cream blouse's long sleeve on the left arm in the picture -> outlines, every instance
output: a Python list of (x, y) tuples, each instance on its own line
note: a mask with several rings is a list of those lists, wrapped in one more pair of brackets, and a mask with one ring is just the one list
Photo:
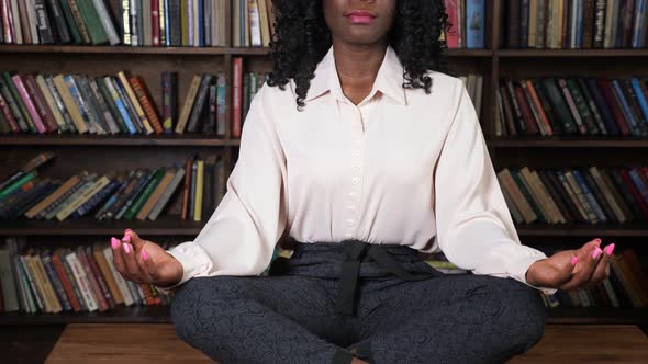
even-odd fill
[(193, 241), (168, 250), (183, 268), (174, 287), (195, 276), (258, 275), (270, 263), (286, 226), (287, 168), (267, 88), (252, 100), (223, 200)]

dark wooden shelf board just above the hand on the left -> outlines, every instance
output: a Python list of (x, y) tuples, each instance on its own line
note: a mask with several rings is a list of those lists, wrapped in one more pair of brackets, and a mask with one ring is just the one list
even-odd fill
[(197, 236), (205, 221), (181, 220), (178, 216), (160, 216), (155, 221), (96, 220), (80, 218), (66, 221), (0, 220), (0, 236), (112, 236), (131, 228), (147, 236)]

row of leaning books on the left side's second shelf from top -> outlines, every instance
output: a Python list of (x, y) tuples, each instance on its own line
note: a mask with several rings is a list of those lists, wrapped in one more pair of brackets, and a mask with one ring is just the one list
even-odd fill
[[(169, 73), (163, 75), (163, 83)], [(170, 81), (168, 81), (170, 82)], [(172, 87), (163, 87), (170, 93)], [(172, 95), (171, 95), (172, 96)], [(174, 110), (163, 98), (163, 118), (138, 76), (89, 77), (2, 72), (0, 130), (3, 133), (161, 134)]]

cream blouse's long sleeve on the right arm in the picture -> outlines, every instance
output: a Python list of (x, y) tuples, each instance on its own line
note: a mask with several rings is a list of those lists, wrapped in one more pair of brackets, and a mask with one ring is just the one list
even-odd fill
[(547, 255), (521, 243), (498, 183), (474, 106), (458, 81), (458, 103), (435, 169), (437, 239), (457, 266), (526, 282), (526, 271)]

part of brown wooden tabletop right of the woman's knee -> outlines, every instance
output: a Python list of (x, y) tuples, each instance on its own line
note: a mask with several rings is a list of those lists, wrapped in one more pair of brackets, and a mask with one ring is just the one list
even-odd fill
[(540, 342), (507, 363), (647, 362), (648, 337), (636, 326), (547, 325)]

